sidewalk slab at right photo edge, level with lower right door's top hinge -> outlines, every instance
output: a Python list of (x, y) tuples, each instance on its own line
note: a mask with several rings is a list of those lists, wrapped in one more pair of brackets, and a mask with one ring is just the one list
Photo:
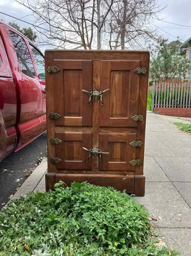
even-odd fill
[(161, 133), (156, 132), (155, 136), (178, 157), (191, 157), (191, 135), (188, 133)]

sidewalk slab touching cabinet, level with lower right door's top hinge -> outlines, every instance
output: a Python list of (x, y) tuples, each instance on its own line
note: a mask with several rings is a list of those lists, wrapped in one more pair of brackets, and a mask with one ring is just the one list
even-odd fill
[(175, 156), (175, 152), (161, 142), (154, 132), (145, 135), (145, 156)]

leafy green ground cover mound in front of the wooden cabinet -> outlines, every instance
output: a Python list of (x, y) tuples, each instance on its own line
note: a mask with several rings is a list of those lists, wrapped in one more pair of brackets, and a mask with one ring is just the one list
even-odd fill
[(63, 185), (3, 208), (0, 256), (178, 255), (151, 238), (148, 213), (125, 191)]

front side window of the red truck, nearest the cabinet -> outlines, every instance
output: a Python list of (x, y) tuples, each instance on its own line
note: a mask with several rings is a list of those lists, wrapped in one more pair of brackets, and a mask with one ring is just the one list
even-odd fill
[(41, 53), (30, 44), (31, 51), (33, 52), (34, 62), (36, 64), (38, 75), (41, 80), (45, 80), (44, 57)]

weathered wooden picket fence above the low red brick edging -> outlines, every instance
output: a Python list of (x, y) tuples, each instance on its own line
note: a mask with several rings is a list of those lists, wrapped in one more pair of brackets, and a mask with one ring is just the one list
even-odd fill
[(191, 108), (191, 83), (153, 83), (151, 110), (158, 108)]

